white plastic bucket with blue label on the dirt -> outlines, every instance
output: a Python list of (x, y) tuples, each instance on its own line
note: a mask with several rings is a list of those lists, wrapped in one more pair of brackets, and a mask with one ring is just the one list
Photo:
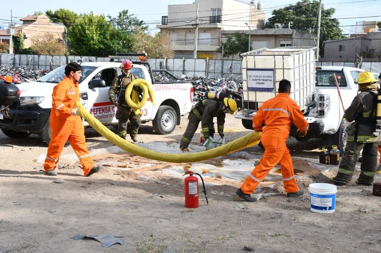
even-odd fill
[(334, 212), (337, 187), (331, 183), (311, 183), (310, 191), (311, 211), (321, 214)]

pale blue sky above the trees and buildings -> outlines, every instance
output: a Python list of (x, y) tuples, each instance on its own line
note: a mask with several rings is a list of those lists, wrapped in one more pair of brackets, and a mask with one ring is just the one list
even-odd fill
[[(206, 1), (206, 0), (205, 0)], [(241, 0), (249, 2), (250, 0)], [(258, 0), (257, 0), (258, 1)], [(110, 14), (117, 16), (119, 11), (128, 9), (129, 13), (135, 14), (139, 19), (148, 22), (161, 22), (161, 16), (167, 14), (168, 4), (192, 3), (193, 0), (138, 0), (138, 1), (116, 1), (116, 0), (12, 0), (4, 2), (1, 6), (0, 25), (10, 22), (10, 10), (16, 21), (19, 18), (33, 14), (34, 11), (45, 12), (48, 9), (59, 8), (70, 9), (76, 13)], [(271, 16), (271, 10), (282, 8), (286, 4), (296, 3), (297, 0), (262, 0), (266, 19)], [(359, 21), (381, 20), (381, 0), (323, 0), (326, 8), (335, 8), (335, 18), (339, 19), (344, 34), (349, 33), (349, 26)], [(363, 18), (367, 16), (375, 16)], [(155, 25), (150, 25), (154, 28)]]

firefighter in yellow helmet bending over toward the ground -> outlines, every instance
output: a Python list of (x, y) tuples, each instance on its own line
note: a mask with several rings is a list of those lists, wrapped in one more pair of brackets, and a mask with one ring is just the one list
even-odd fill
[[(217, 117), (217, 131), (221, 138), (224, 137), (225, 114), (229, 112), (233, 114), (237, 110), (237, 102), (231, 98), (224, 98), (222, 101), (215, 99), (205, 99), (198, 102), (192, 108), (188, 116), (188, 126), (185, 130), (183, 138), (181, 138), (180, 149), (189, 151), (188, 146), (191, 143), (194, 133), (201, 121), (202, 133), (204, 135), (204, 146), (208, 149), (212, 145), (209, 126), (213, 122), (213, 118)], [(214, 131), (214, 128), (213, 128)]]

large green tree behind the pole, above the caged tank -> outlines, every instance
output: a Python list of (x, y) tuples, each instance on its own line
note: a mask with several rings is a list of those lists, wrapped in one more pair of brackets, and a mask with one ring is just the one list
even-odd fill
[[(276, 28), (277, 24), (288, 28), (289, 25), (291, 29), (316, 34), (318, 9), (317, 0), (298, 1), (282, 9), (273, 10), (273, 16), (268, 19), (265, 28)], [(319, 45), (321, 56), (324, 54), (324, 41), (343, 38), (338, 20), (332, 17), (334, 12), (334, 8), (325, 9), (322, 4)]]

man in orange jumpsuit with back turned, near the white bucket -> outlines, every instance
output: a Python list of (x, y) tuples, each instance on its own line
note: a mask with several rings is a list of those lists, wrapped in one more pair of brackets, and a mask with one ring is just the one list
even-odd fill
[(255, 166), (251, 174), (237, 189), (236, 193), (245, 201), (254, 202), (256, 198), (251, 197), (255, 187), (265, 179), (270, 170), (278, 163), (281, 164), (283, 184), (287, 197), (303, 195), (303, 189), (296, 185), (292, 168), (291, 156), (286, 147), (286, 140), (290, 132), (292, 123), (298, 128), (298, 135), (303, 137), (308, 131), (308, 123), (303, 117), (299, 106), (289, 97), (291, 83), (283, 79), (279, 82), (278, 95), (272, 98), (258, 109), (253, 117), (253, 128), (255, 131), (262, 131), (261, 142), (265, 152), (260, 160), (260, 164)]

